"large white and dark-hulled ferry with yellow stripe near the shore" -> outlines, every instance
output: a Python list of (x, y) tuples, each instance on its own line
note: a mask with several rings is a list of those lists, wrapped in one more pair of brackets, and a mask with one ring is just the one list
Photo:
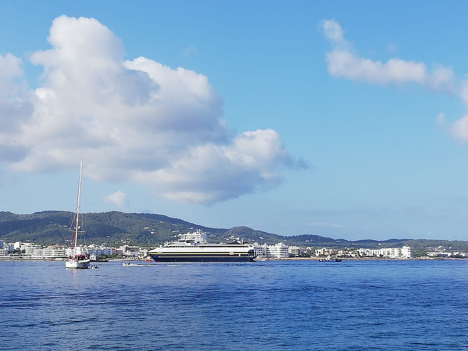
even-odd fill
[(179, 234), (178, 241), (167, 242), (148, 251), (155, 262), (253, 262), (253, 245), (233, 241), (211, 244), (206, 240), (208, 233), (201, 230)]

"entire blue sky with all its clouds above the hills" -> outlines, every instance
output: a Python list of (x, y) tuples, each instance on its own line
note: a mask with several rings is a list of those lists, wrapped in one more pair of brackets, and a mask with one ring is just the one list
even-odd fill
[(0, 211), (468, 240), (467, 10), (5, 2)]

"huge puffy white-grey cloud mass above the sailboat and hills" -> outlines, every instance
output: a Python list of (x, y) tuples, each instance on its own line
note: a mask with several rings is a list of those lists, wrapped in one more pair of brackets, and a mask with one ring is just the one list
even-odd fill
[(125, 61), (121, 40), (95, 19), (58, 17), (48, 42), (30, 57), (44, 67), (34, 92), (18, 81), (21, 59), (0, 56), (0, 154), (13, 169), (62, 170), (84, 159), (95, 180), (209, 203), (274, 186), (298, 165), (273, 130), (230, 136), (203, 74)]

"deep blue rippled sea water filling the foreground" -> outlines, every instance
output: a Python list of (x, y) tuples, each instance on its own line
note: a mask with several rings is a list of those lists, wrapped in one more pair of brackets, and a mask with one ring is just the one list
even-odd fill
[(0, 263), (1, 350), (468, 350), (468, 261)]

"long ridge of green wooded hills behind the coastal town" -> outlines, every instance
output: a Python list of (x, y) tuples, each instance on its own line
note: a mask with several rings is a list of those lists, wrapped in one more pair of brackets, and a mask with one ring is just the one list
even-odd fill
[[(40, 244), (67, 244), (72, 234), (70, 224), (73, 212), (43, 211), (32, 214), (0, 212), (0, 240), (8, 242), (34, 241)], [(244, 242), (274, 244), (280, 241), (288, 245), (329, 247), (329, 248), (388, 248), (409, 245), (413, 248), (428, 249), (438, 246), (452, 250), (468, 250), (468, 241), (447, 241), (427, 239), (389, 239), (385, 241), (333, 239), (315, 234), (283, 236), (254, 230), (249, 227), (230, 229), (210, 228), (154, 213), (98, 212), (80, 216), (86, 230), (86, 243), (106, 243), (109, 245), (135, 244), (154, 246), (175, 240), (178, 233), (194, 229), (210, 232), (209, 241), (226, 242), (233, 238)]]

